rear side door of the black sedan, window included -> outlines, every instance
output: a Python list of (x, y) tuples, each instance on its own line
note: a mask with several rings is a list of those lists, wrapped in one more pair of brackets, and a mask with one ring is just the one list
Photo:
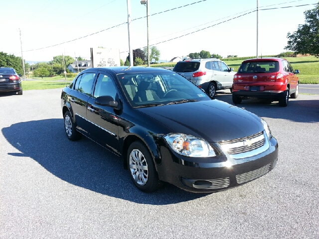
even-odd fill
[(73, 90), (70, 92), (69, 101), (71, 110), (77, 125), (77, 129), (83, 134), (87, 133), (87, 101), (91, 97), (95, 72), (85, 72), (80, 74), (75, 82)]

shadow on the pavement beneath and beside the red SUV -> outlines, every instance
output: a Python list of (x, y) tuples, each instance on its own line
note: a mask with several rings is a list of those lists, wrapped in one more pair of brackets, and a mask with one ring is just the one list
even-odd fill
[(295, 122), (319, 122), (319, 100), (289, 99), (287, 107), (281, 107), (278, 101), (272, 103), (267, 100), (248, 99), (235, 105), (230, 93), (217, 92), (215, 99), (245, 109), (259, 117), (273, 119), (289, 119)]

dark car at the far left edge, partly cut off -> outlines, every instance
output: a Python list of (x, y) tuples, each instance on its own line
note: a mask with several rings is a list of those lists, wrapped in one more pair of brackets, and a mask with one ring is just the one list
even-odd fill
[(17, 92), (22, 95), (20, 77), (13, 68), (0, 67), (0, 92)]

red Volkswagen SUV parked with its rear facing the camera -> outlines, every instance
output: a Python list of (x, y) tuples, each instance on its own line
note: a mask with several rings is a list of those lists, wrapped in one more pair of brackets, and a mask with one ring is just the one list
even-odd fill
[(293, 70), (290, 62), (282, 58), (255, 58), (241, 63), (234, 75), (232, 98), (234, 104), (243, 99), (259, 98), (278, 100), (286, 107), (289, 96), (298, 97), (299, 70)]

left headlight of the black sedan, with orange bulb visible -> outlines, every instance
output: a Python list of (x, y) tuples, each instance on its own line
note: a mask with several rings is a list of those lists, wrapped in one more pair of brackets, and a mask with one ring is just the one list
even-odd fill
[(163, 136), (172, 150), (188, 157), (216, 156), (210, 144), (200, 138), (180, 133), (170, 133)]

